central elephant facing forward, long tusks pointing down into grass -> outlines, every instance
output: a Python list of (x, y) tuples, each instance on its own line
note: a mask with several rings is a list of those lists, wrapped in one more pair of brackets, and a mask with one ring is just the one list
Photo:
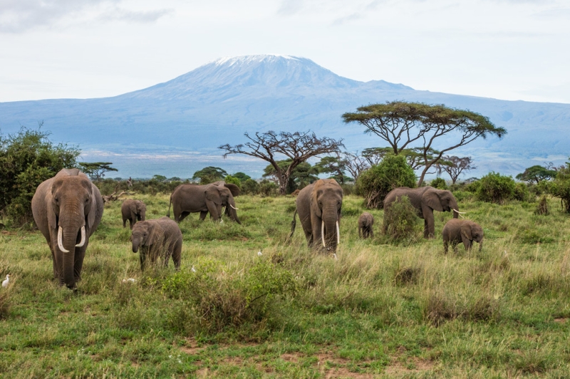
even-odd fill
[(335, 252), (340, 243), (342, 205), (343, 189), (334, 179), (320, 179), (304, 187), (296, 199), (289, 237), (295, 232), (295, 217), (299, 213), (308, 246), (318, 249), (322, 242), (324, 249)]

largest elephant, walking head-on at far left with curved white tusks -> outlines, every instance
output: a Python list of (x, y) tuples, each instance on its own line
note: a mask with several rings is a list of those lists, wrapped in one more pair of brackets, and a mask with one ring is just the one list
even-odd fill
[(103, 197), (83, 172), (63, 169), (38, 185), (31, 209), (51, 250), (53, 277), (75, 289), (89, 237), (103, 217)]

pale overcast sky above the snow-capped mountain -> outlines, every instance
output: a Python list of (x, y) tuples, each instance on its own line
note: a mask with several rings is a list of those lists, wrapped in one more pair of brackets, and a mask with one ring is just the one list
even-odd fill
[(0, 101), (98, 98), (222, 56), (570, 103), (568, 0), (0, 0)]

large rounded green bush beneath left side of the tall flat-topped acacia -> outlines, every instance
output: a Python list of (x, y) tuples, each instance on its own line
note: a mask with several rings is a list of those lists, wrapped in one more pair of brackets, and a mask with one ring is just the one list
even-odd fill
[(381, 208), (384, 198), (394, 188), (415, 187), (415, 174), (403, 155), (390, 154), (364, 171), (356, 180), (356, 186), (367, 208)]

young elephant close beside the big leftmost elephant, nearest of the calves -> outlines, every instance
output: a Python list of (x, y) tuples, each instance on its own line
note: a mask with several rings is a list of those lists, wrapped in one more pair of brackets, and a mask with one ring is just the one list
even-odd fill
[(174, 266), (180, 269), (182, 255), (182, 232), (180, 227), (168, 217), (137, 222), (130, 234), (133, 243), (133, 253), (140, 249), (140, 270), (145, 271), (145, 261), (148, 258), (154, 263), (158, 256), (164, 259), (165, 267), (172, 256)]

